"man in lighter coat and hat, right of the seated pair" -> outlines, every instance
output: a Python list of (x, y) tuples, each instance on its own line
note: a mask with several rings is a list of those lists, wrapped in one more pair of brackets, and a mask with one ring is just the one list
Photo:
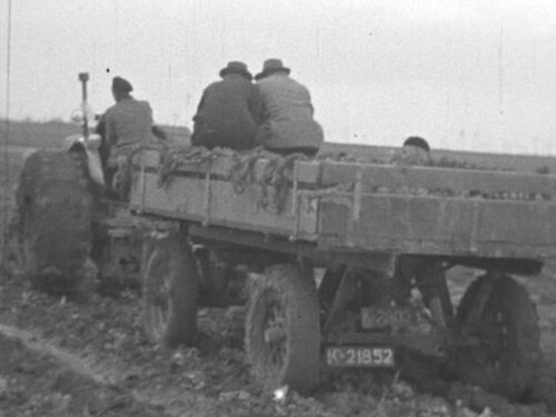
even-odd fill
[(279, 59), (267, 59), (255, 79), (262, 105), (257, 141), (280, 153), (315, 156), (324, 140), (322, 128), (312, 118), (309, 90), (289, 77)]

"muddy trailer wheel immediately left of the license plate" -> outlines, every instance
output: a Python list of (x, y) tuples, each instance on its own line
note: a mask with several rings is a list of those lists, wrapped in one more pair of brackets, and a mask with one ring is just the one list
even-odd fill
[(267, 389), (288, 385), (308, 391), (318, 383), (319, 348), (314, 280), (292, 265), (267, 268), (247, 309), (246, 350), (254, 377)]

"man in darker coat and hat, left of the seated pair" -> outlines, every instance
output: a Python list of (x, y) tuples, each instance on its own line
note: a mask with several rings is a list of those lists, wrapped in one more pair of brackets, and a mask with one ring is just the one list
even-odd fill
[(255, 148), (260, 103), (252, 76), (244, 62), (231, 61), (220, 71), (220, 81), (202, 92), (193, 117), (191, 143), (231, 148)]

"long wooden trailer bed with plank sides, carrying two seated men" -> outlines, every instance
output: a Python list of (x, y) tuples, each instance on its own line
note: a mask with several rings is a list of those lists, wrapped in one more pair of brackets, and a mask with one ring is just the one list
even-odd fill
[[(160, 158), (157, 150), (136, 158), (131, 207), (138, 212), (275, 235), (322, 250), (556, 256), (554, 175), (297, 160), (277, 210), (261, 205), (259, 182), (238, 190), (230, 173), (237, 156), (181, 163), (163, 185)], [(258, 159), (254, 178), (269, 163)]]

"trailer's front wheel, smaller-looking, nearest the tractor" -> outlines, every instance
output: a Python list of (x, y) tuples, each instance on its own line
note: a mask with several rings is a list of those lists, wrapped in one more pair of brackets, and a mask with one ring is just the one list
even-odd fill
[(155, 241), (142, 274), (149, 340), (168, 347), (191, 345), (197, 335), (198, 275), (189, 244), (177, 235)]

